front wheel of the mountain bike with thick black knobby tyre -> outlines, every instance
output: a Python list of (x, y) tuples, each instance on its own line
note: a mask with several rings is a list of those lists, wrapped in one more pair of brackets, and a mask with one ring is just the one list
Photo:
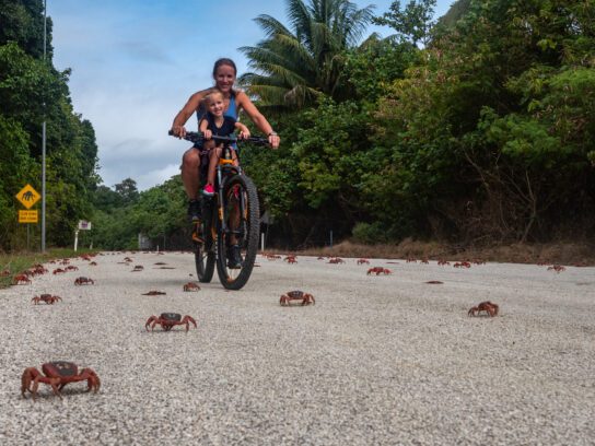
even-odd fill
[[(235, 175), (223, 186), (223, 219), (226, 231), (217, 238), (217, 273), (228, 290), (242, 289), (250, 278), (258, 249), (259, 207), (256, 186), (245, 175)], [(229, 248), (240, 246), (240, 268), (230, 268)]]

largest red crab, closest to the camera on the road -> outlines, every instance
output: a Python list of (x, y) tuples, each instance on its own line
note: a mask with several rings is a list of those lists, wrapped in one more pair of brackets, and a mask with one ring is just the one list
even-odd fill
[(45, 376), (35, 367), (25, 368), (21, 379), (21, 395), (23, 398), (25, 398), (25, 391), (28, 390), (35, 401), (39, 383), (49, 384), (54, 395), (60, 398), (62, 398), (60, 390), (70, 383), (86, 380), (86, 391), (93, 390), (96, 394), (100, 390), (101, 380), (97, 374), (91, 368), (83, 368), (79, 373), (79, 367), (74, 363), (63, 361), (45, 363), (42, 365), (42, 372), (44, 372)]

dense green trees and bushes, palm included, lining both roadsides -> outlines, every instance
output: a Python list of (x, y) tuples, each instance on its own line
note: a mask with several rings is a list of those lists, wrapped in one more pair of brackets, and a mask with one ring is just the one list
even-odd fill
[[(323, 244), (329, 230), (467, 246), (593, 234), (595, 0), (459, 0), (438, 21), (434, 0), (377, 16), (345, 0), (287, 3), (287, 21), (256, 17), (265, 38), (242, 48), (253, 72), (241, 78), (282, 137), (277, 152), (243, 154), (279, 244)], [(40, 176), (44, 117), (50, 243), (94, 212), (95, 247), (136, 247), (139, 232), (180, 247), (179, 177), (102, 186), (68, 71), (51, 48), (43, 60), (42, 2), (0, 4), (0, 247), (22, 239), (13, 196)], [(394, 35), (362, 39), (371, 22)]]

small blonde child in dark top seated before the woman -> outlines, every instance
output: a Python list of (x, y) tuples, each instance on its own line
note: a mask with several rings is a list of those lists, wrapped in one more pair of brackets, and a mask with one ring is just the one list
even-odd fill
[[(246, 139), (250, 137), (250, 131), (246, 126), (241, 122), (237, 122), (231, 116), (223, 115), (223, 94), (221, 92), (212, 92), (205, 96), (205, 105), (207, 113), (205, 117), (200, 120), (198, 126), (199, 130), (205, 136), (203, 149), (209, 150), (209, 173), (207, 175), (207, 185), (202, 189), (202, 193), (206, 196), (212, 196), (214, 193), (214, 173), (217, 169), (217, 164), (221, 157), (221, 151), (223, 144), (217, 145), (215, 141), (212, 141), (213, 136), (218, 137), (229, 137), (236, 129), (240, 130), (240, 138)], [(237, 154), (235, 149), (230, 145), (232, 150), (232, 159), (234, 165), (237, 165)]]

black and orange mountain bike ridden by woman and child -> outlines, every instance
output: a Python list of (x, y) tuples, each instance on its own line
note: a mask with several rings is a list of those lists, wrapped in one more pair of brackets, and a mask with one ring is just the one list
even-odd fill
[[(203, 141), (199, 132), (186, 132), (184, 139), (194, 143)], [(240, 165), (233, 165), (230, 145), (243, 142), (266, 145), (269, 142), (258, 137), (241, 140), (213, 136), (212, 139), (222, 142), (223, 150), (217, 166), (215, 193), (212, 198), (201, 197), (202, 219), (192, 226), (196, 272), (200, 282), (209, 283), (217, 265), (221, 284), (228, 290), (240, 290), (254, 269), (260, 211), (256, 186)], [(240, 161), (238, 153), (237, 159)], [(240, 268), (230, 268), (229, 253), (233, 245), (240, 246)]]

